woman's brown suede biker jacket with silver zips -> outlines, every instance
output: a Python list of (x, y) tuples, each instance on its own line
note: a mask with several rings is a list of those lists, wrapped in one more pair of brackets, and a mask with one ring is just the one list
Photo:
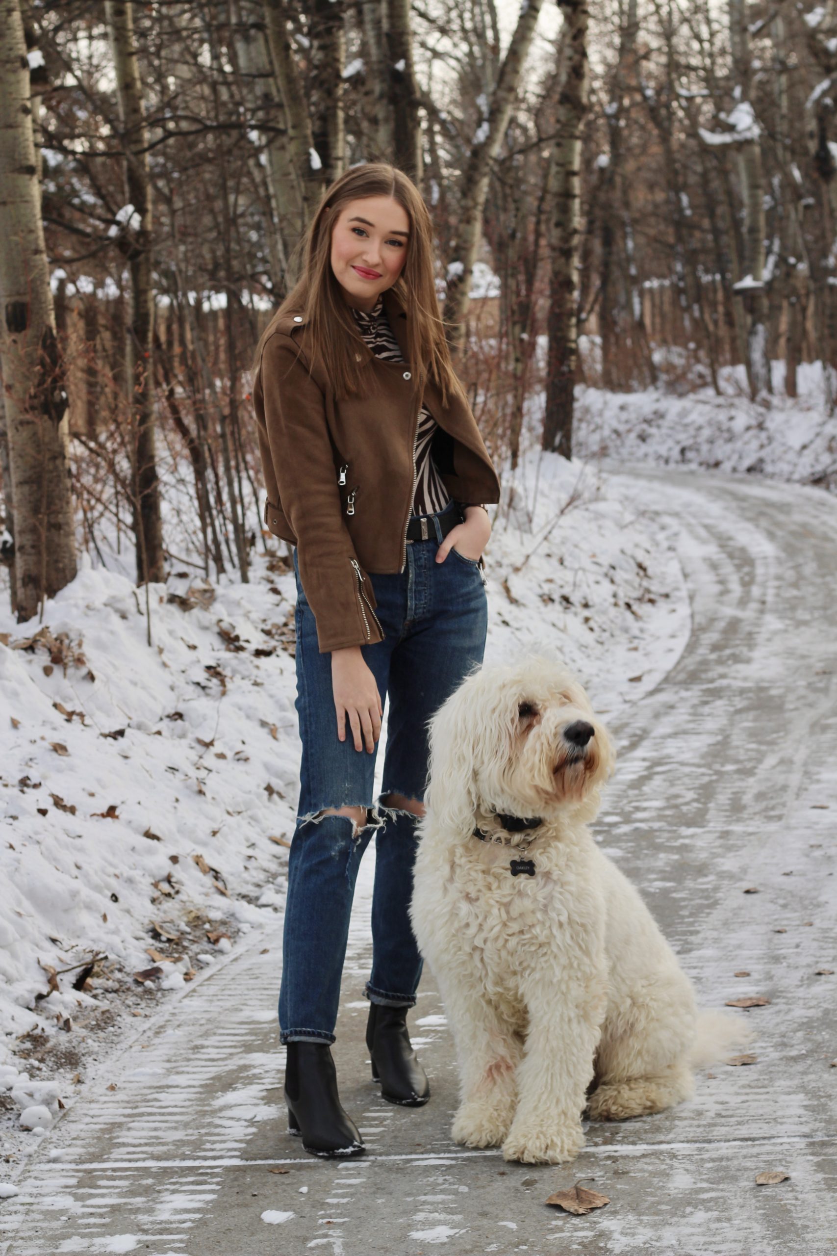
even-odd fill
[[(407, 314), (392, 291), (384, 309), (407, 355)], [(297, 546), (300, 578), (320, 652), (383, 639), (369, 573), (403, 571), (413, 505), (413, 446), (422, 401), (439, 425), (432, 453), (456, 501), (499, 501), (499, 481), (466, 401), (420, 397), (408, 362), (366, 347), (370, 388), (338, 401), (311, 369), (301, 315), (285, 315), (265, 343), (253, 406), (267, 504), (265, 522)]]

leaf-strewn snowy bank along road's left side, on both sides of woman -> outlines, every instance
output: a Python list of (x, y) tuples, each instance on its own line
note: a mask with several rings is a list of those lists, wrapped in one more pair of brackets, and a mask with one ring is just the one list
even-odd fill
[[(132, 1016), (281, 909), (299, 769), (284, 551), (250, 584), (176, 566), (151, 588), (151, 646), (144, 597), (87, 559), (43, 624), (16, 624), (0, 589), (6, 1153), (38, 1138), (21, 1112), (46, 1129)], [(688, 639), (676, 556), (595, 465), (531, 452), (507, 472), (487, 571), (487, 657), (558, 651), (602, 711)]]

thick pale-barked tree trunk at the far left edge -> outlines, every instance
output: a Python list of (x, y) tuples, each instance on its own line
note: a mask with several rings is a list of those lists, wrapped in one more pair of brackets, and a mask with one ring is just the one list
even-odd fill
[[(67, 393), (40, 212), (29, 64), (18, 0), (0, 0), (0, 372), (4, 494), (14, 502), (19, 619), (75, 575)], [(4, 441), (0, 438), (0, 443)]]

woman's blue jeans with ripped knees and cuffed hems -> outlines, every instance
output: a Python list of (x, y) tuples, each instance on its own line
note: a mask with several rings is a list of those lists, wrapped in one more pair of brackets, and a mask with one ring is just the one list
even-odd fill
[[(450, 502), (448, 510), (456, 510)], [(442, 514), (442, 512), (440, 512)], [(410, 928), (417, 816), (387, 808), (402, 794), (423, 801), (428, 765), (428, 721), (464, 676), (482, 663), (488, 627), (479, 568), (450, 550), (435, 561), (442, 531), (429, 520), (430, 539), (407, 545), (407, 565), (395, 575), (370, 574), (384, 639), (361, 646), (381, 702), (389, 698), (383, 788), (373, 803), (375, 752), (358, 751), (346, 720), (336, 731), (331, 654), (319, 652), (314, 613), (296, 571), (296, 710), (302, 741), (300, 800), (291, 843), (285, 909), (279, 1025), (282, 1042), (334, 1042), (349, 916), (360, 859), (375, 834), (371, 907), (371, 1002), (412, 1007), (422, 957)], [(325, 808), (361, 806), (368, 824), (355, 833), (348, 815)]]

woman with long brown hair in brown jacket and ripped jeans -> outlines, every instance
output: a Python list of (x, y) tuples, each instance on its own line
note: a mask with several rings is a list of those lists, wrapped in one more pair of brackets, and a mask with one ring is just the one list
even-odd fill
[(340, 1104), (330, 1044), (373, 833), (373, 1078), (393, 1103), (429, 1098), (407, 1031), (422, 972), (408, 903), (427, 721), (482, 662), (484, 504), (499, 500), (450, 365), (430, 217), (400, 171), (355, 167), (325, 193), (302, 278), (259, 345), (253, 402), (265, 521), (295, 546), (297, 594), (302, 764), (279, 997), (289, 1127), (307, 1152), (355, 1156), (364, 1145)]

